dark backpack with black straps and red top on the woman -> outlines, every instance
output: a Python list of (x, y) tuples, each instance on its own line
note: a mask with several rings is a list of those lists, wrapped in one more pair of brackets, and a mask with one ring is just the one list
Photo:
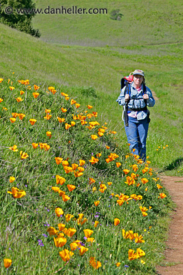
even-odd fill
[[(130, 73), (131, 74), (131, 73)], [(121, 78), (120, 80), (120, 88), (122, 89), (125, 86), (125, 90), (124, 90), (124, 95), (127, 93), (129, 94), (129, 99), (126, 101), (125, 105), (123, 106), (123, 114), (124, 114), (124, 122), (125, 122), (125, 126), (128, 127), (128, 115), (127, 113), (130, 111), (140, 111), (140, 110), (144, 110), (147, 112), (147, 122), (150, 122), (150, 118), (149, 118), (149, 110), (147, 109), (147, 102), (146, 99), (144, 99), (145, 102), (145, 107), (143, 108), (138, 108), (138, 109), (133, 109), (133, 108), (128, 108), (128, 102), (130, 100), (130, 94), (131, 94), (131, 82), (132, 80), (132, 75), (129, 76), (124, 76), (123, 78)], [(142, 95), (146, 93), (146, 86), (145, 86), (145, 82), (143, 81), (142, 83)], [(138, 99), (142, 99), (142, 97), (138, 98)]]

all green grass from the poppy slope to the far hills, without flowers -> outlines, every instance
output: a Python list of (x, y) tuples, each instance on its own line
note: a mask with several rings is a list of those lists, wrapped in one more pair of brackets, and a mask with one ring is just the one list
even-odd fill
[[(58, 1), (37, 1), (38, 7), (48, 4), (58, 7)], [(74, 3), (67, 1), (67, 6), (71, 5)], [(155, 265), (163, 259), (169, 222), (167, 213), (173, 205), (167, 190), (164, 187), (158, 190), (152, 177), (158, 176), (155, 171), (169, 175), (183, 174), (182, 3), (94, 1), (91, 5), (89, 1), (79, 1), (75, 5), (86, 8), (103, 6), (108, 8), (108, 12), (119, 8), (123, 16), (121, 21), (114, 21), (109, 19), (109, 13), (37, 15), (33, 25), (42, 32), (40, 39), (0, 24), (0, 54), (3, 56), (0, 77), (4, 78), (0, 83), (0, 97), (3, 98), (0, 106), (7, 108), (4, 110), (0, 107), (1, 258), (12, 259), (9, 274), (52, 274), (57, 270), (58, 274), (72, 274), (73, 270), (75, 274), (154, 274)], [(136, 161), (131, 156), (125, 159), (128, 148), (121, 120), (122, 111), (115, 102), (120, 92), (121, 76), (128, 75), (134, 68), (144, 70), (147, 86), (159, 98), (150, 109), (151, 122), (147, 137), (147, 155), (154, 171), (152, 175), (148, 172), (143, 174), (144, 165), (138, 164), (138, 178), (147, 177), (149, 180), (139, 187), (124, 183), (126, 176), (122, 169), (129, 168), (131, 173), (133, 170), (129, 165)], [(8, 78), (15, 86), (12, 92), (9, 90), (10, 83), (7, 84)], [(19, 90), (26, 90), (17, 80), (27, 78), (31, 90), (27, 90), (26, 100), (24, 93), (21, 96), (23, 101), (16, 102), (14, 97), (20, 96)], [(36, 99), (32, 97), (33, 84), (40, 86)], [(50, 85), (56, 87), (54, 95), (46, 92)], [(60, 92), (75, 98), (80, 107), (75, 109), (74, 105), (70, 106), (70, 99), (66, 101)], [(65, 117), (70, 122), (73, 120), (71, 114), (78, 114), (77, 110), (84, 111), (88, 103), (93, 106), (91, 110), (98, 112), (96, 119), (100, 126), (104, 121), (107, 122), (108, 129), (96, 140), (92, 140), (90, 135), (97, 133), (100, 126), (88, 130), (84, 125), (81, 126), (79, 120), (75, 120), (75, 126), (66, 130), (64, 124), (56, 119), (57, 116)], [(61, 107), (66, 107), (66, 113), (61, 112)], [(43, 118), (45, 108), (51, 109), (49, 120)], [(16, 118), (11, 123), (11, 112), (25, 113), (25, 117), (22, 121)], [(30, 125), (28, 120), (33, 117), (37, 121)], [(86, 120), (89, 122), (88, 118)], [(109, 134), (109, 130), (113, 129), (117, 133)], [(45, 134), (48, 130), (52, 132), (50, 139)], [(33, 149), (32, 142), (44, 142), (50, 148), (48, 151), (39, 147)], [(17, 152), (8, 149), (13, 144), (18, 146)], [(106, 144), (110, 146), (108, 150)], [(28, 153), (28, 158), (21, 160), (20, 150)], [(98, 163), (91, 165), (88, 161), (91, 153), (96, 156), (101, 151)], [(107, 164), (105, 158), (110, 152), (117, 153), (119, 157)], [(85, 159), (83, 175), (75, 178), (73, 173), (65, 174), (62, 165), (55, 163), (55, 156), (68, 158), (69, 165)], [(121, 166), (117, 168), (115, 161), (120, 161)], [(56, 174), (65, 177), (66, 181), (60, 189), (67, 194), (66, 184), (76, 186), (66, 202), (51, 190), (51, 186), (56, 185)], [(9, 183), (10, 176), (15, 177), (12, 183)], [(88, 184), (89, 177), (96, 180), (95, 184)], [(107, 186), (104, 193), (98, 190), (101, 181)], [(112, 182), (111, 186), (107, 185), (108, 181)], [(157, 182), (162, 185), (160, 180)], [(94, 185), (97, 191), (93, 193)], [(13, 186), (24, 189), (26, 195), (13, 198), (7, 193)], [(167, 197), (158, 199), (161, 190)], [(116, 197), (110, 196), (111, 192), (126, 195), (136, 193), (143, 198), (119, 206)], [(97, 207), (93, 204), (95, 200), (100, 200)], [(152, 206), (146, 217), (142, 216), (139, 205), (147, 208)], [(56, 206), (63, 209), (62, 217), (56, 217)], [(88, 219), (83, 225), (73, 219), (65, 221), (66, 213), (78, 218), (81, 212)], [(120, 219), (116, 227), (113, 225), (115, 217)], [(94, 220), (99, 221), (96, 228), (93, 227)], [(46, 230), (49, 226), (57, 229), (58, 222), (74, 227), (76, 233), (71, 239), (79, 239), (89, 248), (83, 256), (79, 256), (75, 250), (74, 256), (66, 264), (58, 251), (63, 248), (70, 250), (70, 238), (66, 237), (66, 244), (58, 248), (52, 236), (43, 235), (48, 235)], [(83, 238), (84, 228), (93, 229), (91, 236), (95, 242), (92, 245), (86, 244)], [(135, 244), (134, 241), (123, 239), (122, 228), (142, 234), (145, 243)], [(42, 240), (44, 246), (39, 246), (38, 239)], [(128, 249), (136, 250), (136, 247), (141, 247), (146, 253), (142, 257), (144, 265), (140, 262), (141, 258), (128, 260)], [(97, 270), (89, 266), (90, 256), (101, 261), (101, 267)], [(121, 262), (119, 267), (115, 265), (117, 261)], [(129, 267), (125, 267), (125, 264)], [(1, 274), (4, 274), (3, 264), (0, 268)]]

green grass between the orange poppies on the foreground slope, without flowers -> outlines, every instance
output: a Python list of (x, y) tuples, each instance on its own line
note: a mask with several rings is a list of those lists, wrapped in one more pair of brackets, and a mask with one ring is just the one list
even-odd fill
[[(161, 222), (166, 220), (167, 212), (172, 207), (170, 197), (162, 189), (157, 189), (152, 177), (157, 174), (152, 171), (149, 173), (148, 164), (140, 164), (133, 156), (125, 157), (128, 152), (126, 144), (116, 142), (115, 134), (110, 133), (110, 127), (104, 124), (102, 117), (94, 116), (86, 118), (86, 125), (89, 121), (99, 121), (89, 130), (85, 125), (81, 125), (79, 119), (74, 120), (73, 115), (85, 114), (87, 108), (70, 104), (70, 99), (65, 100), (60, 92), (63, 89), (56, 88), (56, 93), (47, 93), (47, 85), (38, 89), (39, 95), (33, 98), (32, 92), (34, 82), (30, 82), (30, 88), (18, 83), (19, 77), (10, 76), (9, 84), (7, 79), (0, 83), (1, 107), (6, 106), (7, 110), (0, 108), (0, 165), (1, 165), (1, 200), (0, 200), (0, 231), (1, 231), (1, 258), (11, 258), (12, 265), (8, 268), (9, 274), (52, 274), (58, 269), (61, 274), (154, 274), (155, 264), (160, 261), (159, 253), (164, 247), (164, 229), (166, 225)], [(12, 83), (11, 83), (12, 81)], [(15, 87), (12, 91), (9, 85)], [(17, 102), (15, 98), (20, 96), (23, 99)], [(66, 92), (66, 90), (65, 90)], [(76, 99), (79, 102), (79, 98)], [(61, 107), (66, 108), (66, 112), (61, 111)], [(49, 120), (45, 119), (45, 109), (51, 109), (52, 115)], [(92, 109), (91, 109), (92, 110)], [(93, 108), (93, 111), (97, 111)], [(14, 123), (10, 122), (12, 112), (24, 113), (25, 117), (19, 120), (16, 117)], [(89, 113), (90, 110), (87, 111)], [(75, 125), (65, 129), (64, 122), (59, 123), (57, 117), (65, 118), (67, 123), (75, 121)], [(31, 125), (29, 119), (34, 118), (36, 122)], [(91, 134), (98, 135), (98, 129), (105, 129), (104, 134), (96, 140), (91, 139)], [(104, 129), (104, 128), (103, 128)], [(46, 131), (51, 131), (51, 138), (46, 135)], [(10, 137), (10, 139), (9, 139)], [(70, 141), (70, 142), (69, 142)], [(48, 150), (36, 149), (32, 147), (32, 142), (47, 143), (50, 145)], [(9, 150), (13, 144), (17, 145), (18, 151)], [(109, 145), (109, 148), (106, 148)], [(20, 151), (26, 152), (26, 159), (20, 158)], [(93, 155), (101, 152), (98, 162), (91, 164), (89, 159)], [(110, 153), (116, 153), (115, 160), (106, 162), (105, 158)], [(54, 157), (60, 156), (67, 159), (69, 166), (72, 163), (79, 164), (79, 159), (84, 159), (84, 171), (79, 177), (75, 177), (73, 172), (65, 173), (63, 165), (57, 165)], [(121, 166), (116, 167), (115, 162), (121, 162)], [(125, 183), (126, 176), (122, 171), (128, 168), (128, 174), (133, 171), (132, 164), (137, 164), (137, 178), (132, 185)], [(147, 171), (143, 168), (147, 166)], [(65, 183), (59, 185), (62, 191), (69, 195), (70, 199), (64, 202), (57, 192), (51, 189), (56, 185), (55, 176), (60, 175), (65, 178)], [(9, 177), (14, 176), (15, 180), (10, 183)], [(89, 184), (88, 178), (92, 177), (96, 181)], [(141, 178), (147, 178), (148, 182), (142, 184)], [(108, 186), (107, 182), (112, 182)], [(106, 185), (104, 192), (99, 191), (99, 185)], [(136, 184), (139, 183), (139, 186)], [(68, 192), (67, 184), (75, 185), (72, 192)], [(92, 188), (96, 187), (93, 192)], [(7, 191), (11, 187), (23, 189), (26, 195), (21, 198), (13, 198)], [(147, 190), (145, 190), (145, 188)], [(165, 198), (158, 198), (159, 192), (165, 192)], [(114, 193), (114, 196), (111, 195)], [(120, 195), (141, 195), (141, 200), (129, 200), (119, 206), (116, 203), (116, 194)], [(93, 202), (99, 200), (96, 207)], [(139, 206), (145, 206), (148, 215), (142, 216)], [(63, 216), (55, 215), (55, 208), (62, 208)], [(69, 221), (65, 220), (65, 215), (73, 214)], [(77, 224), (78, 213), (83, 213), (87, 222), (83, 225)], [(114, 226), (114, 218), (119, 218), (120, 223)], [(74, 221), (76, 218), (76, 221)], [(99, 224), (95, 228), (93, 222), (97, 220)], [(161, 223), (160, 223), (161, 222)], [(55, 247), (53, 236), (48, 236), (47, 228), (53, 226), (57, 229), (58, 223), (64, 223), (66, 228), (74, 227), (75, 234), (67, 239), (63, 247)], [(49, 225), (48, 225), (49, 224)], [(95, 242), (89, 245), (84, 239), (83, 229), (93, 230), (91, 237)], [(122, 230), (133, 230), (142, 234), (144, 243), (135, 243), (129, 239), (122, 238)], [(78, 254), (78, 249), (74, 250), (74, 255), (68, 262), (64, 262), (58, 252), (64, 248), (70, 250), (70, 242), (79, 239), (88, 248), (82, 256)], [(40, 246), (40, 241), (43, 246)], [(142, 259), (128, 260), (128, 249), (141, 248), (145, 251)], [(94, 270), (89, 265), (89, 258), (94, 256), (101, 262), (101, 268)], [(115, 263), (121, 262), (119, 267)], [(66, 264), (65, 264), (66, 263)], [(125, 267), (125, 265), (129, 267)], [(60, 269), (61, 268), (61, 269)], [(58, 273), (59, 273), (58, 272)], [(1, 274), (4, 273), (3, 264)]]

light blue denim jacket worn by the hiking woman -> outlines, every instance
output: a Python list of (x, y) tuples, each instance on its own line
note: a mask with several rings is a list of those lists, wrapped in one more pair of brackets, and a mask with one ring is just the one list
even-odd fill
[[(140, 90), (140, 92), (138, 93), (138, 91), (135, 89), (134, 87), (134, 82), (132, 82), (130, 84), (131, 86), (131, 90), (130, 90), (130, 100), (128, 102), (128, 107), (129, 108), (143, 108), (145, 107), (145, 102), (144, 99), (141, 98), (142, 97), (142, 88)], [(125, 105), (125, 98), (124, 98), (124, 90), (125, 90), (125, 86), (121, 89), (121, 93), (119, 94), (118, 98), (116, 99), (116, 102), (118, 102), (119, 105)], [(146, 86), (146, 94), (148, 94), (149, 98), (146, 99), (147, 102), (147, 106), (148, 107), (153, 107), (153, 105), (155, 104), (155, 100), (152, 96), (151, 90)], [(138, 99), (139, 98), (139, 99)], [(131, 111), (131, 114), (135, 114), (135, 111)], [(140, 119), (144, 119), (147, 116), (147, 112), (146, 111), (137, 111), (136, 117), (137, 120)]]

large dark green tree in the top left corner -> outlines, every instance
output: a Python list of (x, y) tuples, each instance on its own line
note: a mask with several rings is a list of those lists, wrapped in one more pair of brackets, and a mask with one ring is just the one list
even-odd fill
[[(5, 8), (9, 7), (7, 11)], [(12, 8), (12, 13), (10, 13)], [(20, 31), (26, 32), (31, 34), (35, 37), (40, 37), (40, 32), (38, 29), (34, 29), (32, 27), (31, 19), (35, 16), (35, 13), (26, 14), (25, 12), (19, 13), (17, 12), (16, 8), (23, 9), (35, 8), (35, 3), (32, 0), (1, 0), (0, 1), (0, 22), (7, 24), (10, 27), (16, 28)], [(8, 14), (9, 12), (9, 14)]]

